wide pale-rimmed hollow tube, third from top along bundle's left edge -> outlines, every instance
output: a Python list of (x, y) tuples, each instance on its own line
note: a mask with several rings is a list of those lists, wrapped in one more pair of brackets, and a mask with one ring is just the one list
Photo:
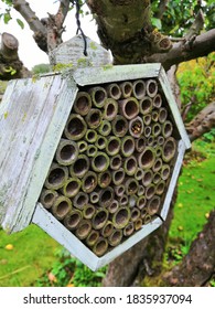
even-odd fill
[(55, 152), (55, 159), (61, 166), (71, 166), (77, 159), (78, 153), (79, 149), (75, 141), (61, 139)]

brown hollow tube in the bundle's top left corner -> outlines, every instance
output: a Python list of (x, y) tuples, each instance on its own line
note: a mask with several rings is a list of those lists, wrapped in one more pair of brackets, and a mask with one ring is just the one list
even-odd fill
[(92, 108), (90, 95), (86, 92), (78, 92), (73, 108), (75, 113), (82, 116), (87, 115), (89, 109)]

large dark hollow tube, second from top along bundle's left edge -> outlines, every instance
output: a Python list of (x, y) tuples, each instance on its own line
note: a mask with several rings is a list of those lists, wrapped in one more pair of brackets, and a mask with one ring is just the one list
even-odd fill
[(71, 140), (79, 140), (85, 136), (86, 130), (85, 119), (80, 115), (72, 114), (66, 122), (64, 135)]

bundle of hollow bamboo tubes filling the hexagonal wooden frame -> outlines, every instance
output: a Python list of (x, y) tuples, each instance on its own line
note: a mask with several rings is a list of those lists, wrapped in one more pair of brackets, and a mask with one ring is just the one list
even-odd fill
[(178, 140), (155, 78), (82, 87), (40, 202), (97, 256), (160, 213)]

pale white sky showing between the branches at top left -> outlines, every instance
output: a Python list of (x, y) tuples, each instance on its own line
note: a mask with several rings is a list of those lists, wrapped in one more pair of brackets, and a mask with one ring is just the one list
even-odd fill
[[(28, 2), (40, 19), (47, 17), (47, 12), (56, 13), (58, 8), (57, 0), (28, 0)], [(0, 14), (4, 11), (4, 3), (0, 0)], [(11, 15), (12, 20), (9, 22), (9, 24), (4, 24), (3, 21), (0, 20), (0, 34), (2, 34), (3, 32), (9, 32), (18, 39), (19, 56), (24, 66), (31, 70), (36, 64), (49, 63), (47, 55), (42, 52), (34, 42), (32, 38), (33, 32), (30, 30), (28, 23), (15, 10), (11, 11)], [(23, 30), (17, 23), (17, 19), (20, 19), (24, 22)], [(84, 19), (80, 19), (80, 22), (85, 35), (89, 36), (96, 42), (99, 42), (96, 34), (96, 24), (95, 21), (92, 20), (92, 15), (85, 15)], [(67, 41), (76, 35), (77, 25), (75, 20), (75, 9), (68, 13), (64, 25), (66, 25), (66, 32), (63, 34), (63, 41)]]

